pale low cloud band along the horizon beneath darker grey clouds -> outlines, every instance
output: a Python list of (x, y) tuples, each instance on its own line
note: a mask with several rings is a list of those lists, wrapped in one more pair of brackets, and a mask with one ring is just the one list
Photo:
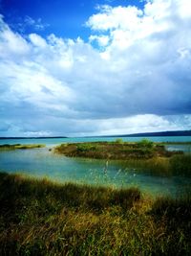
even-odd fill
[[(156, 130), (191, 129), (191, 116), (136, 115), (126, 118), (112, 119), (71, 119), (46, 115), (42, 119), (38, 112), (25, 116), (25, 122), (11, 119), (6, 126), (0, 127), (1, 133), (7, 136), (85, 136), (85, 135), (114, 135)], [(4, 120), (5, 122), (5, 120)]]

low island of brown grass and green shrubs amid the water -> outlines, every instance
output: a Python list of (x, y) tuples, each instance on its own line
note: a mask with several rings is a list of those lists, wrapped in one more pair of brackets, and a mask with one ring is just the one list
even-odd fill
[(163, 145), (142, 140), (138, 143), (122, 142), (88, 142), (62, 144), (55, 148), (55, 152), (72, 157), (89, 157), (97, 159), (150, 159), (157, 156), (169, 157), (175, 151), (166, 151)]

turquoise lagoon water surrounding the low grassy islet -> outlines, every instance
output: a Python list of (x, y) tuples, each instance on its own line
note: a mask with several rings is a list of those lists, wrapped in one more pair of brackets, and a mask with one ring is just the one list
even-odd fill
[[(165, 138), (173, 141), (172, 137)], [(187, 140), (191, 137), (186, 137)], [(104, 138), (105, 140), (116, 140), (116, 138)], [(136, 141), (135, 138), (123, 138), (128, 141)], [(141, 138), (138, 137), (138, 140)], [(151, 138), (150, 138), (151, 139)], [(185, 138), (176, 137), (174, 141), (185, 141)], [(37, 177), (48, 177), (55, 181), (73, 181), (77, 183), (99, 184), (114, 187), (137, 186), (143, 192), (153, 196), (171, 195), (176, 196), (191, 184), (191, 179), (183, 176), (155, 176), (149, 172), (138, 172), (126, 168), (120, 161), (70, 158), (49, 151), (53, 145), (63, 142), (76, 141), (100, 141), (102, 138), (73, 138), (73, 139), (21, 139), (2, 140), (1, 144), (47, 144), (47, 148), (17, 151), (0, 151), (0, 170), (8, 173), (21, 173)], [(159, 141), (158, 140), (158, 141)], [(178, 145), (181, 146), (182, 145)], [(171, 147), (171, 146), (169, 146)], [(174, 147), (174, 145), (172, 145)]]

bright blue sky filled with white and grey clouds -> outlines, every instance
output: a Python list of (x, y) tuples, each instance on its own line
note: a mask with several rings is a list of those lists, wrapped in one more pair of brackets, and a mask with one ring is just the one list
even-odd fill
[(191, 129), (191, 2), (0, 0), (0, 136)]

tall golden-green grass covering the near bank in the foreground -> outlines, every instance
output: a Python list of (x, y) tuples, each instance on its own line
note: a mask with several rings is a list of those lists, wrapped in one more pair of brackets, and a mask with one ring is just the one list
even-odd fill
[(0, 255), (190, 255), (191, 198), (0, 174)]

